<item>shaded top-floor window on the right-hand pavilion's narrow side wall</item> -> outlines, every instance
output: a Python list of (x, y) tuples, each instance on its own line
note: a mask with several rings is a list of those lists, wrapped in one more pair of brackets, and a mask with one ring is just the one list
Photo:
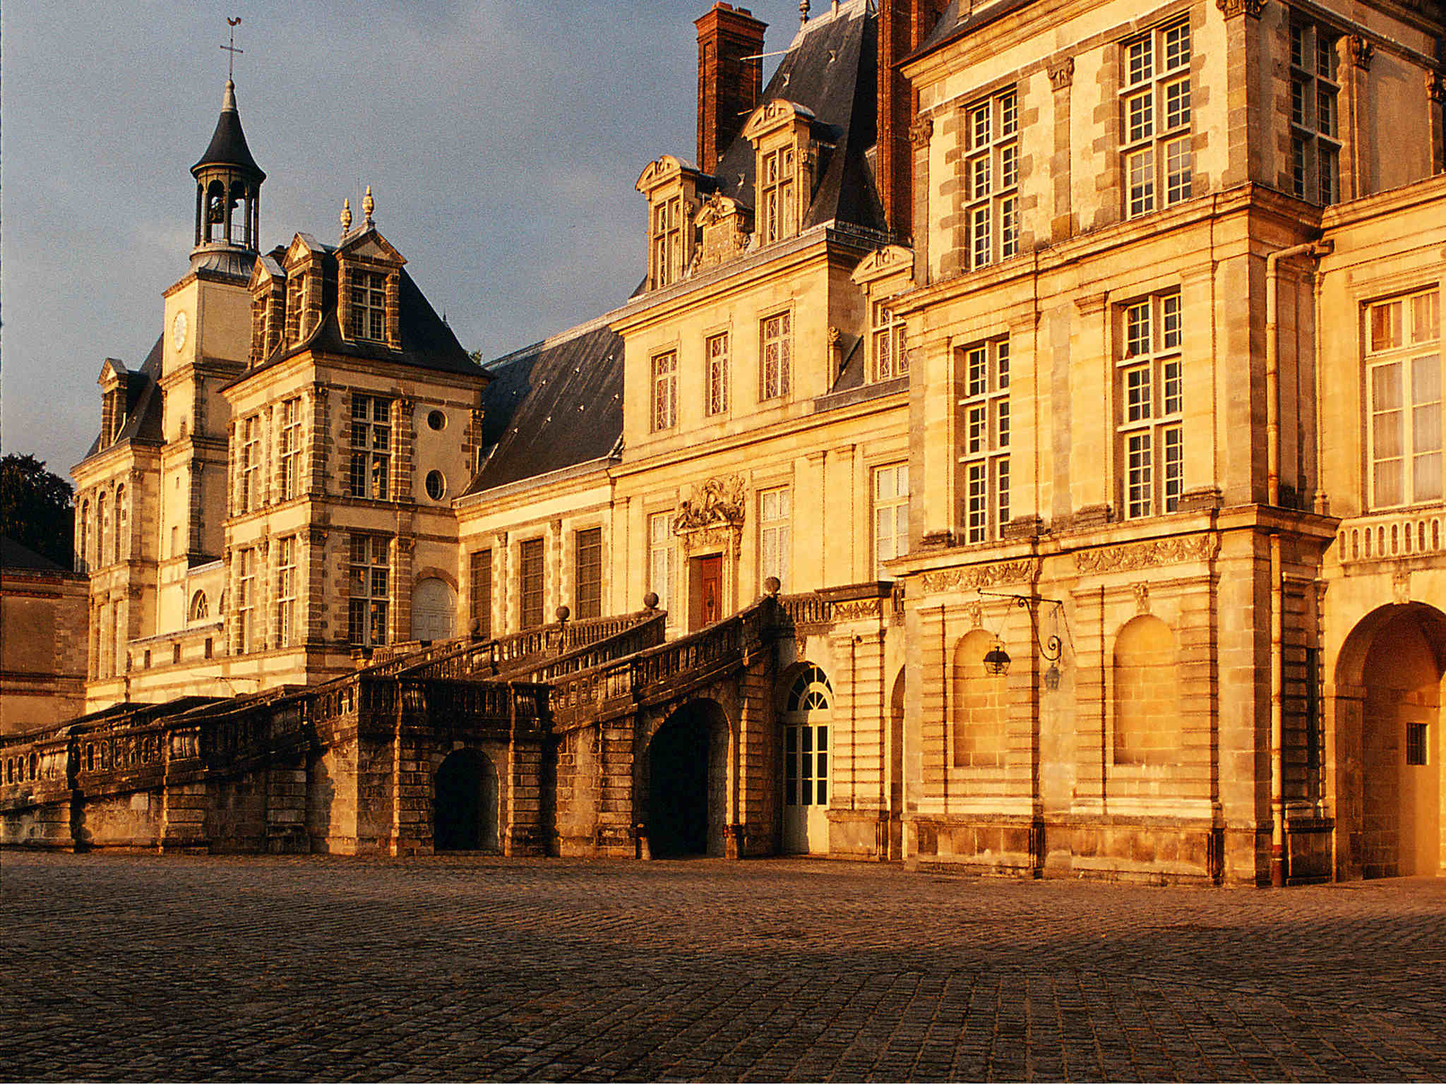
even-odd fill
[(1290, 27), (1290, 186), (1301, 199), (1340, 198), (1336, 116), (1336, 35), (1309, 23)]

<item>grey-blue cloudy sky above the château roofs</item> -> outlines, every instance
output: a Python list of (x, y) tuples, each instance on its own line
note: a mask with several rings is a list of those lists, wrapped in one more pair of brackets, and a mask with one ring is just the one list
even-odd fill
[[(487, 357), (619, 304), (646, 262), (633, 182), (694, 156), (709, 0), (9, 3), (0, 127), (0, 447), (69, 474), (106, 357), (139, 366), (187, 270), (189, 166), (226, 84), (266, 171), (262, 244), (376, 223)], [(794, 0), (750, 4), (766, 49)], [(816, 0), (816, 12), (826, 10)], [(771, 69), (772, 65), (769, 65)]]

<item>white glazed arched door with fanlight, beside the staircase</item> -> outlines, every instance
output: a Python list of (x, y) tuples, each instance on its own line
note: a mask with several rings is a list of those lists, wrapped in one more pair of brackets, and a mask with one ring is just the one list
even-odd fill
[(829, 853), (829, 754), (833, 687), (800, 669), (784, 697), (784, 853)]

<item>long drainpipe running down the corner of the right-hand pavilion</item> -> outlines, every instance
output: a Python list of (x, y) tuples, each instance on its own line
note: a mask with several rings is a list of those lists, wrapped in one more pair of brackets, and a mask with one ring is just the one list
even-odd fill
[[(1265, 257), (1265, 503), (1280, 506), (1280, 301), (1278, 264), (1294, 256), (1329, 256), (1335, 241), (1306, 241)], [(1319, 425), (1319, 419), (1316, 422)], [(1299, 494), (1297, 494), (1299, 502)], [(1270, 883), (1283, 887), (1285, 869), (1284, 585), (1280, 533), (1270, 538)]]

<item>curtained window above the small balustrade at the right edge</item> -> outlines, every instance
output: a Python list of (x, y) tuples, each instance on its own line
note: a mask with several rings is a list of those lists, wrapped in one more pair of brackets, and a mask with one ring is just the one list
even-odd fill
[[(1391, 327), (1390, 321), (1379, 317), (1397, 312), (1398, 318)], [(1411, 507), (1423, 503), (1439, 503), (1443, 491), (1443, 458), (1446, 449), (1437, 442), (1436, 448), (1420, 451), (1416, 441), (1416, 429), (1420, 423), (1419, 415), (1423, 409), (1436, 410), (1436, 431), (1440, 432), (1440, 416), (1443, 406), (1442, 395), (1442, 335), (1440, 335), (1442, 295), (1440, 286), (1429, 285), (1426, 289), (1408, 291), (1388, 298), (1365, 302), (1361, 309), (1362, 317), (1362, 380), (1365, 405), (1365, 477), (1364, 477), (1364, 506), (1371, 512), (1388, 509)], [(1432, 350), (1434, 348), (1434, 354)], [(1417, 366), (1423, 361), (1434, 361), (1434, 376), (1430, 367), (1421, 374), (1427, 382), (1419, 389)], [(1410, 371), (1406, 371), (1406, 366)], [(1398, 387), (1395, 392), (1397, 405), (1394, 408), (1378, 408), (1381, 384), (1379, 374), (1400, 366)], [(1430, 382), (1434, 380), (1434, 399), (1430, 397)], [(1378, 455), (1378, 431), (1385, 415), (1398, 415), (1398, 455)], [(1436, 486), (1434, 493), (1424, 487), (1427, 496), (1419, 494), (1417, 460), (1434, 457)], [(1407, 470), (1407, 460), (1411, 468)], [(1382, 499), (1379, 493), (1379, 464), (1382, 461), (1398, 461), (1401, 464), (1398, 478), (1398, 499)]]

